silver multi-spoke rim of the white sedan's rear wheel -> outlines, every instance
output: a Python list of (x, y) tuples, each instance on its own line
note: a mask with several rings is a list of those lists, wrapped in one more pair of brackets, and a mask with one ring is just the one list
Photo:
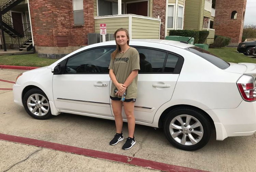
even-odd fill
[(203, 137), (202, 124), (191, 115), (176, 116), (169, 126), (172, 138), (182, 145), (194, 145)]

